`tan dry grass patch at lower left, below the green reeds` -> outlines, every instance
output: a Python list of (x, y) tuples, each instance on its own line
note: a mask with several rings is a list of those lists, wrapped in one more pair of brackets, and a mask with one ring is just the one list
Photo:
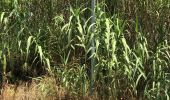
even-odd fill
[(5, 84), (1, 90), (0, 100), (67, 100), (73, 97), (60, 86), (55, 78), (43, 77), (33, 79), (31, 83), (19, 85)]

